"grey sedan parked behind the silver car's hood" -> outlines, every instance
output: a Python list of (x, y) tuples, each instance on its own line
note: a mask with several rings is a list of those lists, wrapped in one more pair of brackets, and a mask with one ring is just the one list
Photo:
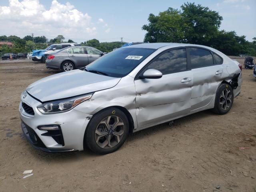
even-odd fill
[(82, 68), (103, 55), (105, 54), (102, 51), (93, 47), (67, 47), (50, 54), (46, 60), (46, 68), (71, 71), (77, 68)]

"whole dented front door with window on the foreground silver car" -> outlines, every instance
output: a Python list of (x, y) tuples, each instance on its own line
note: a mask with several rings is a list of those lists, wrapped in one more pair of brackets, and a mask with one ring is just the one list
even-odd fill
[(162, 72), (159, 79), (135, 79), (138, 126), (187, 115), (190, 112), (192, 73), (186, 48), (168, 50), (157, 56), (138, 74), (147, 69)]

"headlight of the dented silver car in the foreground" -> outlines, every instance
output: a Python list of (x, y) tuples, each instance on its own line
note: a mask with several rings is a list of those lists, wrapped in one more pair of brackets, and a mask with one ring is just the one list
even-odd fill
[(77, 106), (78, 104), (90, 99), (91, 94), (80, 95), (68, 99), (57, 100), (53, 102), (43, 103), (37, 107), (42, 114), (66, 112)]

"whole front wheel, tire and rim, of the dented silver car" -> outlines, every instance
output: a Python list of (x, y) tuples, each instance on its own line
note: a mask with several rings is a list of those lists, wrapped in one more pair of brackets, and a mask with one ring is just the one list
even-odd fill
[(117, 108), (102, 110), (92, 117), (84, 144), (98, 154), (112, 153), (124, 144), (129, 133), (126, 115)]

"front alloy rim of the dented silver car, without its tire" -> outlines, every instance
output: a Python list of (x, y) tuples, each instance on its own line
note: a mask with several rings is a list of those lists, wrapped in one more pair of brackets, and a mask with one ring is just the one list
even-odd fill
[(101, 148), (112, 148), (122, 140), (124, 129), (124, 122), (120, 117), (107, 116), (97, 125), (95, 141)]

